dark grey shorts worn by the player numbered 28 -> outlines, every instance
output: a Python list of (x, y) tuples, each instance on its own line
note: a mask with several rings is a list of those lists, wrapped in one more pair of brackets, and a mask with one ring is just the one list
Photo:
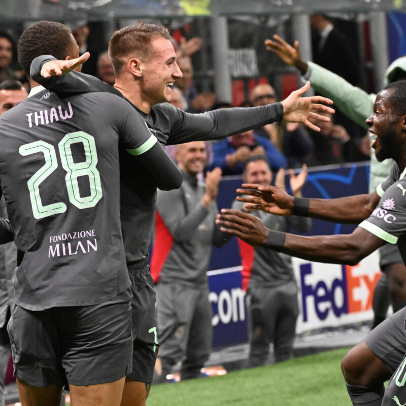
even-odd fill
[(8, 324), (18, 380), (37, 387), (114, 382), (131, 370), (131, 291), (92, 306), (30, 311)]

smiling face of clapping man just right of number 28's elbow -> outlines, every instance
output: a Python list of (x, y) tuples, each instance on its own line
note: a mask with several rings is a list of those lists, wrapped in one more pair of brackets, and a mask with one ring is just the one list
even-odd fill
[(193, 141), (187, 144), (178, 145), (175, 152), (176, 160), (182, 171), (196, 176), (203, 171), (206, 160), (206, 145), (203, 141)]

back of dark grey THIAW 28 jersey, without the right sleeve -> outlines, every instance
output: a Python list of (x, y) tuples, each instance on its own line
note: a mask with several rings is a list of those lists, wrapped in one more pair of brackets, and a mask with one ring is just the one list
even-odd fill
[[(41, 88), (40, 88), (41, 89)], [(106, 93), (41, 90), (0, 119), (0, 181), (17, 247), (20, 306), (83, 306), (129, 286), (119, 217), (118, 132)]]

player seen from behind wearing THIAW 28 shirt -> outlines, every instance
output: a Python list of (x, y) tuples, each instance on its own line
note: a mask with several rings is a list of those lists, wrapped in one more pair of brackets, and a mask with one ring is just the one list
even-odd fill
[[(70, 29), (41, 21), (25, 30), (18, 53), (27, 74), (44, 52), (78, 57)], [(30, 85), (0, 117), (0, 182), (24, 251), (8, 325), (20, 399), (58, 405), (67, 382), (73, 404), (118, 405), (132, 358), (118, 143), (142, 165), (134, 177), (177, 188), (182, 175), (121, 98), (61, 100)]]

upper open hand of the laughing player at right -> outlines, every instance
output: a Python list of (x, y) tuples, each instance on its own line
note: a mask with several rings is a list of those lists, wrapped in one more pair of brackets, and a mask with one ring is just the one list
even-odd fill
[(236, 191), (242, 195), (237, 196), (237, 200), (245, 202), (248, 210), (262, 210), (279, 216), (292, 214), (293, 196), (279, 187), (243, 183)]

